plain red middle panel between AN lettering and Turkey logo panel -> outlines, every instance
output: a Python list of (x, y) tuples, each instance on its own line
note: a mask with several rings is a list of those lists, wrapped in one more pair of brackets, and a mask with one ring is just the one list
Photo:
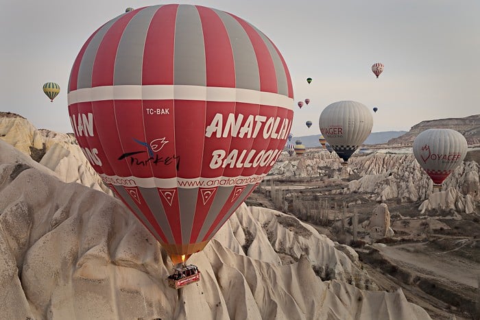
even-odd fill
[(130, 177), (130, 167), (128, 166), (128, 157), (123, 155), (119, 132), (117, 130), (117, 119), (115, 119), (115, 108), (112, 100), (93, 101), (92, 102), (93, 117), (101, 121), (98, 125), (97, 133), (102, 148), (108, 159), (110, 159), (110, 167), (119, 177)]

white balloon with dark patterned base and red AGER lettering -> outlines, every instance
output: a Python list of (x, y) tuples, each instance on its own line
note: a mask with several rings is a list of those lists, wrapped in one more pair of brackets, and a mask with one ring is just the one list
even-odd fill
[(373, 117), (362, 103), (338, 101), (322, 111), (318, 123), (320, 132), (346, 165), (372, 131)]

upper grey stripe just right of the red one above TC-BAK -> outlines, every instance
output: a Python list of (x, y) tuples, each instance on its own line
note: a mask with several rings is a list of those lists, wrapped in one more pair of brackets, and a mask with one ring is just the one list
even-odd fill
[(202, 22), (194, 5), (178, 5), (173, 71), (173, 84), (206, 86)]

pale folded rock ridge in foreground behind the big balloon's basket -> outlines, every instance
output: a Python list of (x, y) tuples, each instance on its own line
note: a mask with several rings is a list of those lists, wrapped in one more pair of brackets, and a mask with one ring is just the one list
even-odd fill
[(0, 212), (5, 319), (429, 319), (402, 291), (348, 284), (370, 279), (309, 225), (244, 205), (189, 260), (202, 280), (175, 291), (167, 254), (120, 201), (3, 141)]

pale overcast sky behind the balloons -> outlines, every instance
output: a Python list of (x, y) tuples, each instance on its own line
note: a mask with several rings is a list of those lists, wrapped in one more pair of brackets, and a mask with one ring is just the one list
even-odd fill
[[(67, 83), (86, 39), (127, 7), (147, 0), (2, 2), (0, 111), (38, 129), (73, 132)], [(295, 104), (294, 136), (320, 134), (330, 103), (359, 101), (373, 114), (372, 132), (409, 130), (420, 121), (480, 113), (479, 0), (197, 0), (235, 14), (265, 33), (282, 53)], [(370, 67), (385, 64), (376, 79)], [(307, 84), (307, 77), (313, 78)], [(45, 82), (60, 84), (50, 103)], [(373, 113), (373, 112), (372, 112)], [(305, 121), (310, 120), (310, 129)]]

